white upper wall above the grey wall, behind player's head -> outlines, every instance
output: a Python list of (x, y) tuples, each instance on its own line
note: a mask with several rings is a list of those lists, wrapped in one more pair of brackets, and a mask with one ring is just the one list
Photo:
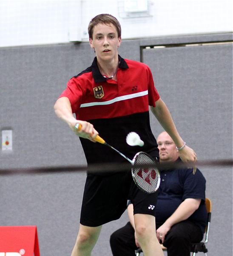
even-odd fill
[(119, 19), (122, 39), (232, 31), (231, 0), (153, 0), (138, 13), (125, 12), (125, 2), (0, 0), (0, 47), (88, 41), (99, 13)]

